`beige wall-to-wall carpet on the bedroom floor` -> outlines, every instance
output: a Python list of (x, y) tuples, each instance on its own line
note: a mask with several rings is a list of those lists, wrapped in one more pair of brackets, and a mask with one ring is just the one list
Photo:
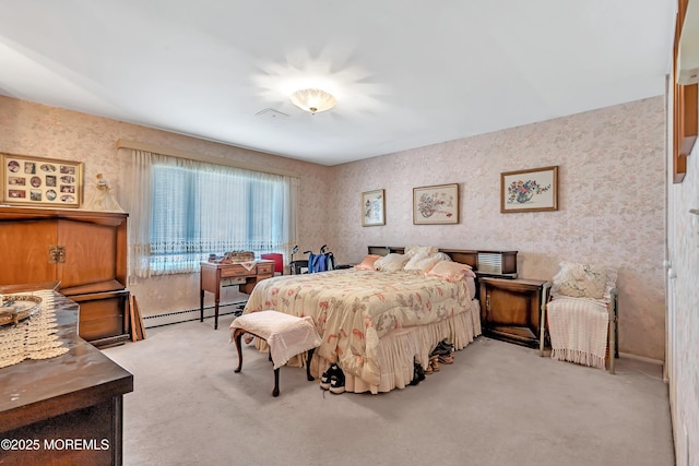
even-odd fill
[(674, 465), (660, 366), (617, 374), (481, 337), (417, 386), (323, 392), (228, 343), (232, 315), (150, 328), (104, 353), (134, 375), (125, 465)]

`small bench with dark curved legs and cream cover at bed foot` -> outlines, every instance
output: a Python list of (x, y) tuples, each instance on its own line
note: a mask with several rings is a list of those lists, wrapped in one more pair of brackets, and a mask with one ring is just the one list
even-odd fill
[(280, 368), (300, 353), (308, 351), (306, 378), (308, 381), (315, 380), (310, 374), (310, 360), (321, 339), (310, 316), (297, 318), (277, 311), (258, 311), (236, 318), (230, 324), (230, 339), (238, 350), (236, 373), (242, 369), (240, 338), (246, 333), (264, 339), (270, 346), (270, 360), (274, 367), (272, 396), (280, 395)]

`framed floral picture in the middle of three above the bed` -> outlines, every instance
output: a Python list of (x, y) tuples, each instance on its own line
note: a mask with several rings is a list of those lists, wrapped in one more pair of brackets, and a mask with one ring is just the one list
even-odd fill
[(459, 223), (459, 184), (413, 188), (413, 224)]

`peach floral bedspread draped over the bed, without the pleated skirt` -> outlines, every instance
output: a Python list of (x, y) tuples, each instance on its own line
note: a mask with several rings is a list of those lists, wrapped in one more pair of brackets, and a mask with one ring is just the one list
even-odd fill
[(275, 310), (311, 316), (322, 338), (316, 353), (377, 385), (379, 338), (395, 328), (464, 312), (471, 299), (463, 280), (350, 268), (259, 282), (244, 312)]

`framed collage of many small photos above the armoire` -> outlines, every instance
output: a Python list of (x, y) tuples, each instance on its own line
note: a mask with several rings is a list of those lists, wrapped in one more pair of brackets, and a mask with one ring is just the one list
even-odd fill
[(0, 154), (3, 204), (80, 207), (83, 164), (26, 155)]

